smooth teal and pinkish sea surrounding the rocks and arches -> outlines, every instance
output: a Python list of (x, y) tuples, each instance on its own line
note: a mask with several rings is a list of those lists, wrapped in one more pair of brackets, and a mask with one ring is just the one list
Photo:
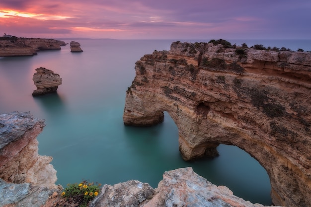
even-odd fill
[[(39, 154), (53, 157), (56, 184), (65, 188), (82, 180), (110, 185), (139, 180), (156, 188), (165, 171), (192, 167), (213, 184), (230, 188), (235, 196), (271, 205), (266, 170), (242, 149), (221, 144), (220, 156), (214, 159), (184, 161), (178, 150), (178, 129), (166, 112), (164, 122), (154, 127), (123, 124), (126, 90), (135, 77), (136, 61), (155, 50), (169, 50), (174, 41), (210, 40), (63, 41), (79, 42), (83, 52), (71, 53), (67, 45), (33, 57), (0, 58), (0, 113), (29, 111), (45, 120), (37, 138)], [(311, 40), (227, 41), (311, 51)], [(32, 96), (36, 89), (32, 77), (39, 67), (61, 76), (57, 93)]]

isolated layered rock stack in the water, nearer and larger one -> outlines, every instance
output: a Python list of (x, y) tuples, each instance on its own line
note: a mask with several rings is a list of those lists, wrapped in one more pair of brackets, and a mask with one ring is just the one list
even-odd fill
[(33, 91), (33, 96), (56, 92), (58, 86), (62, 84), (60, 75), (52, 70), (40, 67), (36, 71), (32, 79), (37, 86), (37, 90)]

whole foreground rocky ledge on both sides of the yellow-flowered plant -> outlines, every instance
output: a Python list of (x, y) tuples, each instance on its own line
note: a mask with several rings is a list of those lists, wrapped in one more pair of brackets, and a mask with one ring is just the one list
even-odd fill
[[(74, 207), (56, 186), (52, 157), (38, 155), (36, 137), (44, 121), (29, 112), (0, 114), (0, 207)], [(148, 183), (130, 180), (104, 185), (89, 207), (263, 207), (215, 186), (192, 168), (165, 172), (153, 189)]]

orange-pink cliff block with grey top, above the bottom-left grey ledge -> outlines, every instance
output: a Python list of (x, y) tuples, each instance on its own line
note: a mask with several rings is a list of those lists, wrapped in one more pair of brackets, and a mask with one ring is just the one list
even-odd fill
[(38, 155), (44, 121), (29, 112), (0, 114), (0, 178), (9, 183), (56, 187), (52, 157)]

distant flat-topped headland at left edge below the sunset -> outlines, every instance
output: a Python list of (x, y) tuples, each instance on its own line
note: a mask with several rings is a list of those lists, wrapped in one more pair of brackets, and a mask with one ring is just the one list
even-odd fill
[(64, 41), (41, 38), (0, 38), (0, 57), (33, 56), (38, 50), (60, 50)]

